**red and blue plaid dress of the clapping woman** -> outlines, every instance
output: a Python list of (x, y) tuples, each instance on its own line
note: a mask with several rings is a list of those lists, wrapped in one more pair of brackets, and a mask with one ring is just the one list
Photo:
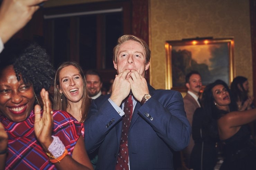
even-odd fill
[[(53, 119), (52, 134), (61, 139), (68, 150), (68, 155), (72, 156), (83, 124), (65, 111), (55, 111)], [(56, 169), (36, 140), (33, 110), (25, 121), (19, 123), (12, 122), (3, 115), (0, 116), (0, 120), (9, 138), (6, 169)]]

